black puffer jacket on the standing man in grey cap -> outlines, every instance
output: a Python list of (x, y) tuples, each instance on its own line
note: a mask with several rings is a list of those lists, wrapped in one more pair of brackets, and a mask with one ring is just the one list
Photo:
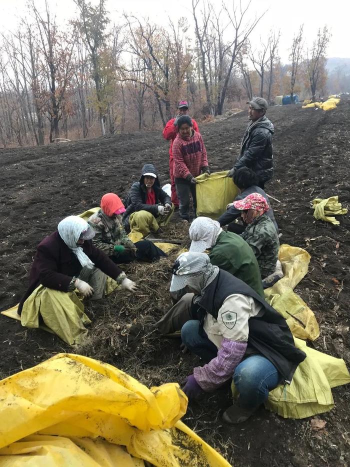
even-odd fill
[(260, 181), (270, 180), (273, 176), (273, 133), (273, 124), (265, 116), (250, 123), (244, 132), (234, 169), (248, 167)]

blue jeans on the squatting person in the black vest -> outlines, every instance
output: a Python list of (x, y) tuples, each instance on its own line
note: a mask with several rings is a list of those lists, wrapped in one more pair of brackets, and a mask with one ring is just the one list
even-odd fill
[[(199, 335), (199, 321), (196, 319), (183, 324), (181, 339), (189, 350), (206, 363), (217, 355), (216, 345), (208, 339), (205, 332), (203, 331), (203, 336)], [(254, 354), (238, 363), (232, 379), (239, 392), (239, 405), (252, 409), (267, 400), (268, 392), (278, 385), (281, 376), (267, 358), (261, 354)]]

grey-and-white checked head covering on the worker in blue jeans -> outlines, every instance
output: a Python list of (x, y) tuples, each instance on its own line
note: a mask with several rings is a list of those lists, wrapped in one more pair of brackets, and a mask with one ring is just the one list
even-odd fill
[(181, 290), (186, 286), (198, 290), (193, 301), (199, 301), (204, 289), (219, 273), (219, 268), (210, 263), (209, 256), (205, 253), (181, 253), (172, 266), (172, 278), (170, 292)]

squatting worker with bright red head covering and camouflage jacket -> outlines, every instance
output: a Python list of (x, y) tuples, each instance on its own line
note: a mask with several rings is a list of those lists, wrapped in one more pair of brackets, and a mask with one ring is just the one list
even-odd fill
[(125, 212), (124, 204), (115, 193), (106, 193), (101, 198), (101, 208), (92, 214), (88, 224), (93, 228), (95, 236), (92, 243), (116, 264), (130, 261), (153, 261), (166, 254), (149, 240), (133, 243), (127, 236), (121, 214)]

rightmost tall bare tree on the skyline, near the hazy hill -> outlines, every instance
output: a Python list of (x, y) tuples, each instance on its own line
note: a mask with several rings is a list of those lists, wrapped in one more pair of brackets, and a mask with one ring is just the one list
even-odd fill
[(328, 31), (327, 26), (324, 26), (322, 30), (318, 29), (317, 37), (312, 43), (311, 50), (307, 49), (306, 69), (310, 83), (312, 100), (315, 99), (317, 83), (321, 74), (324, 72), (325, 52), (329, 40), (330, 32)]

